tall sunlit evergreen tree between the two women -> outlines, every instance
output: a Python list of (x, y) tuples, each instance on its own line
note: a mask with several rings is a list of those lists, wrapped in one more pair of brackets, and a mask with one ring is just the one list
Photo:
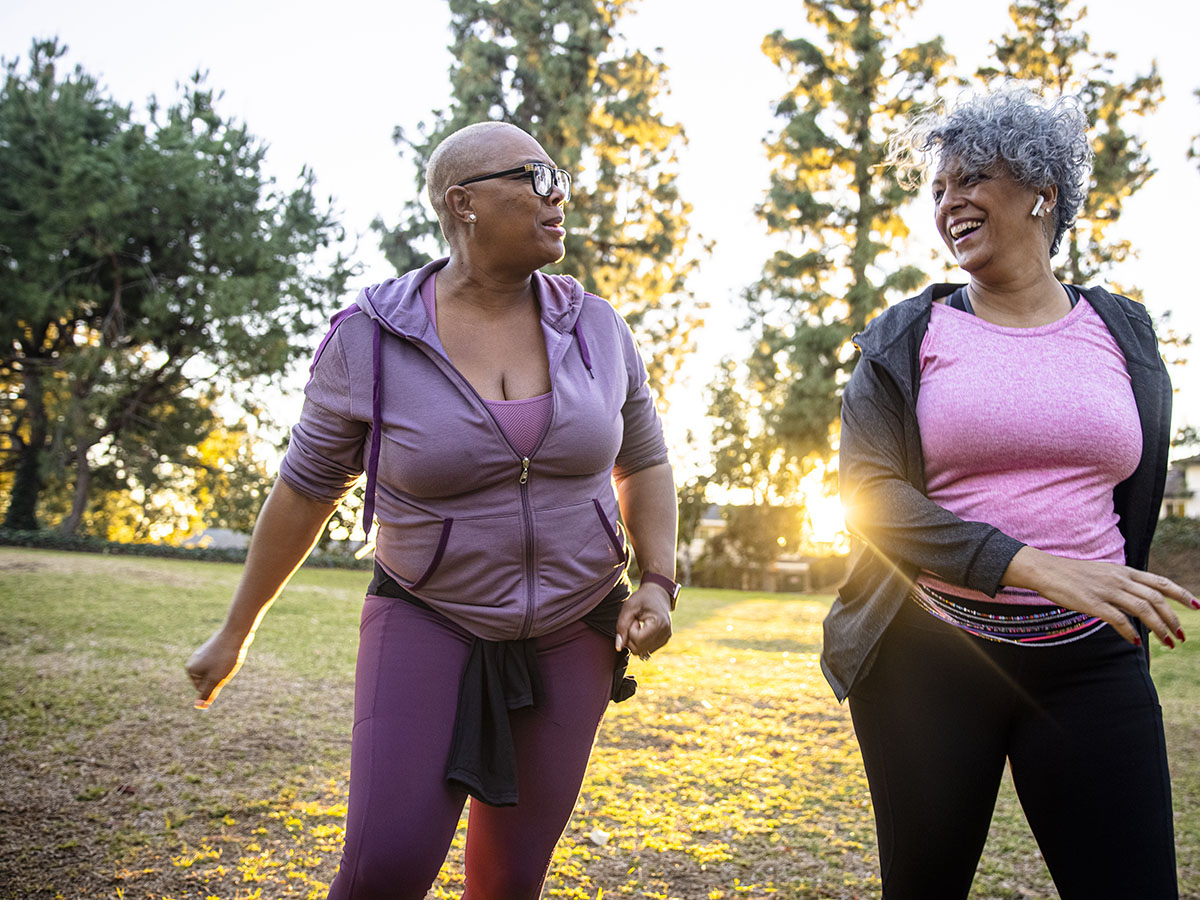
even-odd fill
[(908, 234), (900, 216), (908, 194), (882, 164), (888, 137), (934, 98), (949, 59), (941, 38), (904, 43), (918, 5), (805, 0), (812, 38), (775, 31), (763, 41), (792, 86), (775, 107), (780, 128), (766, 142), (773, 172), (758, 208), (780, 248), (746, 292), (757, 342), (743, 402), (762, 438), (719, 436), (715, 450), (720, 468), (722, 457), (761, 457), (766, 448), (769, 461), (744, 463), (781, 480), (785, 493), (806, 456), (830, 451), (851, 337), (925, 278), (893, 253)]

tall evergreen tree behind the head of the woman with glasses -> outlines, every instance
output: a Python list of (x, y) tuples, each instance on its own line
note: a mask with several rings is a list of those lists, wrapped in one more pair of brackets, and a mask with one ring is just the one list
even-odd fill
[[(679, 125), (658, 110), (666, 67), (622, 46), (632, 0), (450, 0), (451, 102), (415, 137), (396, 128), (424, 190), (433, 148), (472, 122), (496, 119), (533, 134), (575, 182), (566, 257), (557, 266), (610, 300), (653, 355), (660, 384), (678, 368), (698, 306), (686, 288), (697, 259), (691, 211), (676, 184)], [(400, 271), (442, 246), (414, 197), (401, 222), (376, 227)]]

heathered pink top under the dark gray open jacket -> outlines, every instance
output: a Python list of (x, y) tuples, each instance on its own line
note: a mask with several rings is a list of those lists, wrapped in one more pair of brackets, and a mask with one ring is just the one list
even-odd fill
[[(1124, 355), (1086, 299), (1037, 328), (934, 304), (917, 420), (930, 499), (1048, 553), (1124, 563), (1112, 490), (1138, 467), (1141, 428)], [(1049, 602), (1016, 588), (995, 600)]]

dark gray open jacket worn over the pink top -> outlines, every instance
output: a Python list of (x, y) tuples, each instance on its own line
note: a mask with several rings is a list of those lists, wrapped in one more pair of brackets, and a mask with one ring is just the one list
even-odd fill
[[(842, 394), (839, 478), (853, 538), (850, 570), (824, 620), (821, 668), (845, 700), (866, 674), (884, 630), (922, 569), (995, 596), (1020, 541), (966, 522), (925, 496), (917, 424), (920, 342), (935, 299), (959, 284), (932, 284), (896, 304), (854, 338), (858, 365)], [(1145, 569), (1158, 523), (1170, 449), (1171, 383), (1146, 308), (1103, 288), (1080, 288), (1126, 358), (1142, 451), (1112, 500), (1126, 564)], [(1097, 440), (1103, 440), (1097, 436)]]

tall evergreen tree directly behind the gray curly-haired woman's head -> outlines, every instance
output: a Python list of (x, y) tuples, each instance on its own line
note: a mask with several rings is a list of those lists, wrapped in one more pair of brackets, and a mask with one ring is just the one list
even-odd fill
[[(1146, 74), (1118, 82), (1112, 73), (1116, 54), (1097, 53), (1082, 22), (1080, 0), (1018, 0), (1009, 7), (1013, 30), (994, 43), (996, 66), (979, 70), (980, 78), (997, 74), (1040, 82), (1057, 94), (1075, 94), (1087, 112), (1096, 163), (1087, 200), (1075, 227), (1063, 238), (1057, 275), (1087, 284), (1114, 282), (1114, 266), (1134, 253), (1128, 240), (1117, 240), (1111, 227), (1128, 197), (1154, 174), (1145, 142), (1130, 130), (1157, 109), (1163, 79), (1151, 64)], [(1122, 293), (1139, 295), (1133, 286)]]

